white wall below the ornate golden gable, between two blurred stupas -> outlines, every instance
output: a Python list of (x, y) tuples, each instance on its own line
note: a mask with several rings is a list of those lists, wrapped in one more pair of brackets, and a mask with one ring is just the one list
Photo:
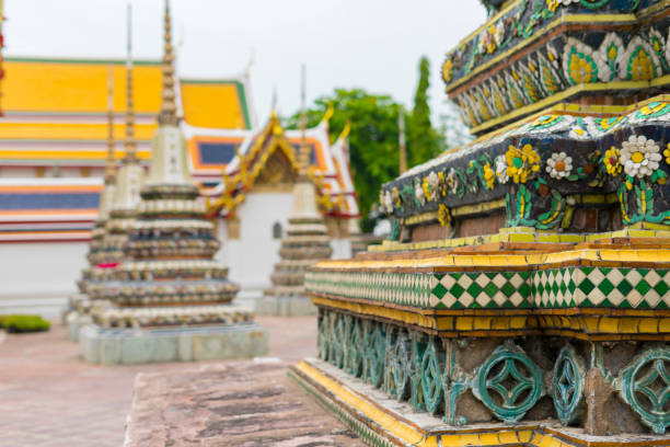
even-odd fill
[(230, 267), (230, 279), (242, 287), (240, 298), (257, 298), (270, 286), (270, 274), (279, 261), (281, 245), (281, 238), (273, 238), (273, 226), (279, 222), (286, 231), (292, 208), (290, 192), (252, 192), (236, 211), (240, 219), (238, 240), (229, 240), (229, 222), (219, 221), (222, 248), (217, 259)]

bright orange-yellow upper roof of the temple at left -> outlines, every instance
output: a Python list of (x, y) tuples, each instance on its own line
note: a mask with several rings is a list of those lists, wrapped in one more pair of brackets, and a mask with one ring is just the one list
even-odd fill
[[(8, 117), (61, 115), (83, 122), (84, 117), (107, 112), (108, 66), (114, 67), (114, 111), (123, 113), (126, 100), (126, 68), (123, 60), (95, 59), (4, 59), (3, 110)], [(153, 117), (159, 112), (161, 65), (158, 60), (138, 60), (134, 67), (135, 108), (139, 116)], [(218, 128), (251, 128), (252, 116), (244, 77), (234, 79), (180, 79), (177, 106), (188, 124)], [(68, 119), (69, 121), (69, 119)], [(1, 123), (0, 139), (24, 138), (16, 135), (15, 123)], [(39, 129), (37, 123), (36, 129)], [(104, 127), (104, 126), (103, 126)], [(147, 129), (149, 131), (149, 129)], [(104, 134), (102, 129), (102, 134)], [(45, 129), (49, 134), (49, 129)], [(150, 130), (149, 137), (153, 134)], [(68, 138), (69, 135), (56, 138)], [(97, 134), (92, 130), (90, 138)], [(105, 135), (100, 135), (104, 139)], [(140, 138), (142, 139), (142, 138)]]

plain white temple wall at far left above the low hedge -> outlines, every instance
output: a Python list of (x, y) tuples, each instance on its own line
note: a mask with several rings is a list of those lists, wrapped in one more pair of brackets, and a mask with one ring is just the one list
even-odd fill
[(56, 317), (77, 293), (88, 242), (0, 244), (0, 314)]

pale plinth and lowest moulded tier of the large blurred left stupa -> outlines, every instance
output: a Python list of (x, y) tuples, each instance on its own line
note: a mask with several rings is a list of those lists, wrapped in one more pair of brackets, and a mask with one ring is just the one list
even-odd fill
[(231, 305), (119, 308), (95, 306), (79, 330), (88, 363), (126, 365), (250, 358), (267, 354), (267, 331)]

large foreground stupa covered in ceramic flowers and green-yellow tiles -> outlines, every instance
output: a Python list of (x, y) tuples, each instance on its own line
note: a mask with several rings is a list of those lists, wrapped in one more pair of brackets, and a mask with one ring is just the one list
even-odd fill
[(442, 67), (476, 139), (308, 271), (291, 375), (374, 446), (670, 446), (670, 3), (485, 3)]

